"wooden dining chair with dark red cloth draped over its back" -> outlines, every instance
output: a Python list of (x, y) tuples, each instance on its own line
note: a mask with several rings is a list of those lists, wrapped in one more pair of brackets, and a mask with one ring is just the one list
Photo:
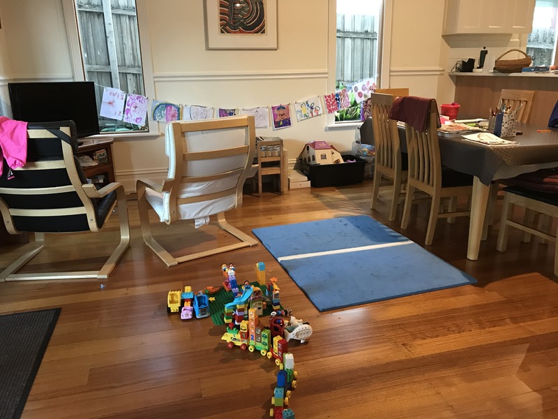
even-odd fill
[[(404, 96), (394, 101), (389, 112), (391, 118), (405, 122), (409, 168), (407, 174), (407, 194), (401, 228), (409, 225), (411, 205), (416, 190), (432, 197), (425, 244), (432, 244), (437, 219), (447, 218), (453, 222), (456, 216), (468, 216), (469, 209), (458, 211), (457, 197), (470, 198), (473, 191), (473, 177), (442, 167), (437, 128), (439, 114), (435, 99)], [(442, 199), (450, 198), (447, 211), (441, 205)]]

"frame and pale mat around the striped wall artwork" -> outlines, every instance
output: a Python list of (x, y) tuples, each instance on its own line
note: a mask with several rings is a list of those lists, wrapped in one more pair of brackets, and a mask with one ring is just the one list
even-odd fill
[[(208, 50), (277, 50), (277, 0), (235, 0), (234, 3), (243, 1), (263, 3), (265, 33), (222, 33), (220, 3), (233, 3), (233, 0), (204, 0), (205, 36)], [(225, 10), (224, 16), (226, 17), (226, 15)]]

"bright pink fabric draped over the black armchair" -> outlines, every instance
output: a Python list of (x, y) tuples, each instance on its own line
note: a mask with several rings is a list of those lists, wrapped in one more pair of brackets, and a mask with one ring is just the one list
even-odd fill
[[(0, 161), (6, 159), (12, 169), (27, 161), (27, 122), (0, 117)], [(2, 175), (0, 164), (0, 175)]]

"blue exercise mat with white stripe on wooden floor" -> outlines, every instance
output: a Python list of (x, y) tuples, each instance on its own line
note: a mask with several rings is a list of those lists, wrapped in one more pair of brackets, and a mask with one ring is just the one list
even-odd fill
[(319, 311), (476, 283), (370, 216), (252, 232)]

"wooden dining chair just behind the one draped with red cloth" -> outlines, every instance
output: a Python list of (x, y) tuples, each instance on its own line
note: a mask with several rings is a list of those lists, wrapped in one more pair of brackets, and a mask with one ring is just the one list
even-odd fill
[(407, 155), (401, 158), (401, 147), (397, 122), (388, 117), (394, 97), (391, 94), (373, 93), (370, 96), (372, 108), (372, 131), (375, 139), (374, 182), (370, 210), (375, 210), (379, 196), (380, 182), (386, 177), (393, 182), (389, 221), (395, 220), (395, 213), (401, 194), (401, 186), (407, 182)]

